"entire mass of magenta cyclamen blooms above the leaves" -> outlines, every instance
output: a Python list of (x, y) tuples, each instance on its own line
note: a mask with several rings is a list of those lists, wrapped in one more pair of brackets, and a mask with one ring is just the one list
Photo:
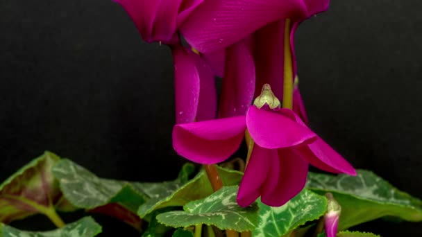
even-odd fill
[[(270, 206), (285, 204), (305, 186), (309, 164), (355, 175), (307, 127), (297, 87), (294, 33), (326, 10), (328, 0), (115, 1), (146, 42), (167, 44), (173, 53), (176, 152), (216, 164), (250, 137), (240, 206), (258, 197)], [(216, 76), (223, 78), (219, 105)]]

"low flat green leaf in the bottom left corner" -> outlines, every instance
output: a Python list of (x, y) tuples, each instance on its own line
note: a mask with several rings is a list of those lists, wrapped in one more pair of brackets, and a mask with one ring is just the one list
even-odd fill
[(0, 223), (2, 237), (92, 237), (99, 233), (101, 233), (101, 225), (98, 225), (91, 217), (82, 218), (53, 231), (21, 231)]

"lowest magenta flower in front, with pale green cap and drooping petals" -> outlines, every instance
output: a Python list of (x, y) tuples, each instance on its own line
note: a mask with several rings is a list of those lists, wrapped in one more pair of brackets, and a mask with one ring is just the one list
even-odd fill
[(233, 155), (246, 129), (255, 144), (237, 195), (242, 207), (259, 196), (269, 206), (285, 204), (305, 186), (308, 164), (355, 175), (355, 169), (292, 110), (280, 109), (269, 85), (246, 116), (176, 125), (173, 146), (191, 161), (215, 164)]

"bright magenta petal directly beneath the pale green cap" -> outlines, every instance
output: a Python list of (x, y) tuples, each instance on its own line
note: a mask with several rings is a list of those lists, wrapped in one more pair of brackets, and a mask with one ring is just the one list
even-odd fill
[(251, 106), (246, 114), (246, 125), (253, 141), (263, 148), (287, 148), (312, 143), (316, 134), (294, 121), (294, 116), (290, 109), (273, 112)]

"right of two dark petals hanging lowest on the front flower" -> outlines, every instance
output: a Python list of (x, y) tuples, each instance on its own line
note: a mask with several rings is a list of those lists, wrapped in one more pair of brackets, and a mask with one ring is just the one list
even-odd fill
[[(294, 149), (278, 149), (280, 173), (277, 187), (273, 190), (263, 189), (261, 201), (271, 207), (280, 207), (300, 193), (307, 177), (307, 161), (296, 155)], [(270, 178), (270, 177), (269, 177)], [(271, 177), (274, 178), (274, 177)]]

